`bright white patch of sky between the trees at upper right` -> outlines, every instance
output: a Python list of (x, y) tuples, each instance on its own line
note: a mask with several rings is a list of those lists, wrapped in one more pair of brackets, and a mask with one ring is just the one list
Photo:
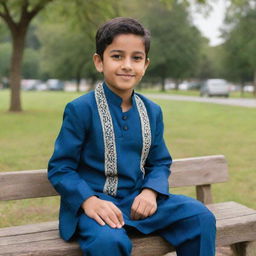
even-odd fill
[(225, 18), (225, 0), (215, 0), (211, 3), (212, 10), (207, 17), (203, 14), (192, 11), (193, 23), (198, 27), (202, 34), (209, 38), (211, 46), (219, 45), (223, 42), (220, 38), (219, 28), (222, 26)]

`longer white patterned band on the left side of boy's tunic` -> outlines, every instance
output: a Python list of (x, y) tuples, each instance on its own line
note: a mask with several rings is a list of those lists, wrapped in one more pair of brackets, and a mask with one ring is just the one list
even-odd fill
[(118, 176), (117, 176), (117, 157), (115, 133), (112, 117), (109, 111), (107, 99), (102, 85), (98, 85), (95, 89), (95, 98), (100, 115), (101, 126), (104, 137), (105, 148), (105, 176), (106, 181), (103, 192), (105, 194), (116, 196)]

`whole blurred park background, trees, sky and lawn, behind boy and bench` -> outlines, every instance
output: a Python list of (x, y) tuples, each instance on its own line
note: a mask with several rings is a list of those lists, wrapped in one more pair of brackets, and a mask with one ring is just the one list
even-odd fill
[[(0, 0), (0, 172), (47, 168), (65, 105), (102, 79), (95, 32), (116, 16), (151, 31), (137, 89), (161, 105), (173, 158), (225, 155), (214, 201), (256, 209), (255, 0)], [(234, 100), (254, 107), (222, 105)], [(58, 200), (0, 202), (0, 227), (54, 220)]]

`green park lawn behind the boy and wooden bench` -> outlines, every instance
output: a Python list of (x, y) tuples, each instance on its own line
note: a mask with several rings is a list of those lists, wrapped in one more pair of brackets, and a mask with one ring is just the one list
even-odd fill
[[(23, 92), (24, 112), (8, 113), (9, 92), (0, 91), (0, 171), (46, 168), (63, 108), (78, 93)], [(215, 202), (233, 200), (256, 209), (256, 110), (209, 103), (157, 100), (173, 158), (223, 154), (230, 180), (213, 186)], [(194, 196), (192, 188), (174, 193)], [(0, 202), (0, 227), (54, 220), (59, 199)]]

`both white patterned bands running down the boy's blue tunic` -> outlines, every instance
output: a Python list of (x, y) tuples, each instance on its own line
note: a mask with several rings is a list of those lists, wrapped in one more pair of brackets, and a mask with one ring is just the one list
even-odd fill
[[(112, 117), (109, 111), (106, 95), (101, 84), (96, 86), (95, 99), (97, 103), (98, 113), (100, 116), (103, 139), (104, 139), (104, 158), (105, 158), (105, 176), (103, 192), (105, 194), (116, 196), (118, 186), (118, 170), (117, 170), (117, 153), (115, 144), (115, 132)], [(144, 165), (149, 154), (151, 146), (151, 129), (147, 109), (142, 99), (135, 95), (135, 102), (140, 116), (141, 130), (142, 130), (142, 152), (140, 169), (145, 175)]]

